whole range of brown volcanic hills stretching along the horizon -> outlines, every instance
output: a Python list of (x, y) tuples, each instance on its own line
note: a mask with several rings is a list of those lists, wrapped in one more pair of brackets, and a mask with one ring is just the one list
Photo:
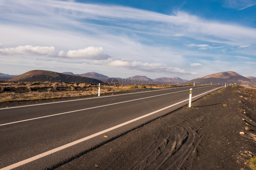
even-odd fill
[[(8, 77), (10, 75), (0, 73), (1, 77)], [(12, 75), (14, 76), (14, 75)], [(89, 84), (98, 84), (98, 83), (120, 83), (123, 82), (138, 82), (145, 81), (150, 82), (151, 84), (240, 84), (248, 86), (256, 86), (255, 77), (248, 76), (243, 77), (238, 73), (232, 71), (214, 73), (211, 75), (203, 76), (201, 78), (195, 78), (191, 81), (181, 79), (179, 77), (161, 77), (156, 79), (150, 79), (146, 76), (132, 76), (128, 78), (110, 78), (100, 73), (88, 72), (83, 74), (74, 74), (72, 72), (63, 72), (57, 73), (46, 70), (32, 70), (21, 74), (19, 76), (14, 76), (8, 81), (55, 81), (55, 82), (76, 82), (76, 83), (89, 83)]]

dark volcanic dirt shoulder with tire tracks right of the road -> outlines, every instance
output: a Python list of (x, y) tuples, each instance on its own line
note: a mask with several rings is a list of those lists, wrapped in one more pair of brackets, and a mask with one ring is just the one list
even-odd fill
[(255, 94), (222, 88), (56, 169), (250, 169)]

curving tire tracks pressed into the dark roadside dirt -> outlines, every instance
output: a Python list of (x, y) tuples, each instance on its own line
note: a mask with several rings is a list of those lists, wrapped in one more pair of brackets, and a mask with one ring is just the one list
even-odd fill
[[(202, 125), (193, 121), (196, 117), (198, 116), (172, 117), (174, 124), (168, 127), (167, 133), (160, 130), (154, 141), (140, 142), (141, 150), (135, 153), (132, 160), (134, 164), (129, 169), (168, 169), (170, 165), (174, 165), (171, 169), (181, 169), (188, 156), (195, 152), (199, 137), (204, 133)], [(198, 121), (204, 121), (203, 119)], [(187, 124), (188, 120), (192, 124)], [(139, 141), (141, 139), (137, 138), (137, 143)]]

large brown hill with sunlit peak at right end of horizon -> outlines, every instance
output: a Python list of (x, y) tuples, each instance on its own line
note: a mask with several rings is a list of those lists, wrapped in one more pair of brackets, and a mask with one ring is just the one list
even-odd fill
[(232, 71), (226, 71), (226, 72), (220, 72), (211, 74), (208, 76), (204, 76), (201, 78), (195, 78), (191, 81), (188, 81), (188, 83), (193, 84), (225, 84), (225, 83), (236, 83), (239, 85), (248, 85), (248, 86), (256, 86), (256, 81), (253, 81), (249, 78), (246, 78), (244, 76), (241, 76), (238, 73), (232, 72)]

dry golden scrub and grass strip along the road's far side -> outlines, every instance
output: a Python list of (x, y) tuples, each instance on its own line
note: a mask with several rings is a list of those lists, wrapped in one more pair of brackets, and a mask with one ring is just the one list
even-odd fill
[[(170, 85), (151, 85), (151, 86), (115, 86), (103, 85), (100, 93), (136, 91), (139, 89), (172, 87)], [(9, 82), (0, 84), (0, 102), (22, 101), (22, 100), (42, 100), (61, 97), (78, 97), (98, 94), (98, 86), (85, 83), (58, 83), (58, 82)], [(23, 91), (23, 90), (24, 91)], [(14, 91), (11, 91), (14, 90)]]

